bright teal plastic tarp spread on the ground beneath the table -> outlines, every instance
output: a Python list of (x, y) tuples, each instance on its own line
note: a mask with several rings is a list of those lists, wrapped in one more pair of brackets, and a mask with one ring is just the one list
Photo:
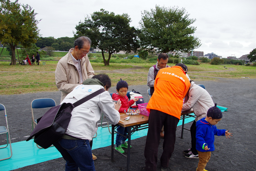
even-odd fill
[[(218, 107), (222, 110), (222, 112), (228, 110), (225, 107), (221, 107), (221, 106), (218, 106)], [(190, 117), (185, 119), (185, 123), (189, 123), (194, 120), (195, 120), (194, 117)], [(182, 125), (182, 120), (179, 121), (177, 126), (179, 125)], [(111, 131), (111, 126), (110, 126), (110, 131)], [(148, 132), (148, 129), (136, 131), (131, 136), (131, 139), (133, 140), (133, 139), (146, 136), (147, 132)], [(97, 137), (93, 139), (92, 149), (106, 147), (110, 145), (111, 145), (111, 134), (109, 133), (108, 128), (99, 127), (97, 131)], [(2, 145), (2, 146), (5, 146), (5, 145)], [(37, 163), (62, 157), (59, 151), (55, 147), (49, 147), (47, 149), (37, 148), (36, 143), (34, 143), (33, 139), (28, 142), (21, 141), (17, 143), (12, 143), (12, 149), (13, 149), (13, 156), (10, 159), (0, 161), (1, 171), (14, 170), (24, 166), (29, 166), (32, 164), (37, 164)], [(109, 150), (109, 152), (111, 152), (111, 150)], [(1, 158), (6, 158), (10, 156), (10, 153), (11, 153), (10, 146), (0, 149)]]

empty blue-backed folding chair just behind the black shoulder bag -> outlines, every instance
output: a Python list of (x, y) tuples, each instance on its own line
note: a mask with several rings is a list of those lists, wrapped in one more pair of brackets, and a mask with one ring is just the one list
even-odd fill
[[(32, 131), (34, 130), (34, 128), (37, 125), (37, 121), (36, 119), (34, 119), (34, 113), (33, 113), (33, 109), (39, 109), (39, 108), (46, 108), (46, 107), (53, 107), (56, 106), (56, 103), (53, 99), (51, 98), (41, 98), (41, 99), (34, 99), (31, 102), (31, 113), (32, 113)], [(42, 148), (39, 147), (37, 144), (36, 146), (38, 148)]]

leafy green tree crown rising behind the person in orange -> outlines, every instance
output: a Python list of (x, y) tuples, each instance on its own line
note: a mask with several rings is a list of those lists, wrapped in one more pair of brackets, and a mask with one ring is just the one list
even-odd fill
[(196, 27), (190, 26), (196, 20), (189, 19), (185, 8), (166, 8), (156, 6), (156, 9), (142, 13), (141, 34), (142, 48), (148, 48), (158, 53), (190, 52), (201, 46), (201, 41), (193, 36)]

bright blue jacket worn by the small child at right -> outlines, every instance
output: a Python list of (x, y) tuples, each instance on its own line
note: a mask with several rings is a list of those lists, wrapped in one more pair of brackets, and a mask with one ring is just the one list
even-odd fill
[[(225, 135), (225, 129), (217, 129), (216, 125), (210, 125), (205, 118), (196, 123), (196, 149), (201, 152), (214, 151), (214, 135)], [(210, 148), (205, 150), (205, 146)]]

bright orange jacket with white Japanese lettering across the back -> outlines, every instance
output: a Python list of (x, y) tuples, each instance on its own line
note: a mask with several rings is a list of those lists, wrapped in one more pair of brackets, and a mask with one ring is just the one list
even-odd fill
[(183, 98), (189, 87), (190, 82), (180, 66), (160, 69), (147, 110), (155, 109), (180, 119)]

